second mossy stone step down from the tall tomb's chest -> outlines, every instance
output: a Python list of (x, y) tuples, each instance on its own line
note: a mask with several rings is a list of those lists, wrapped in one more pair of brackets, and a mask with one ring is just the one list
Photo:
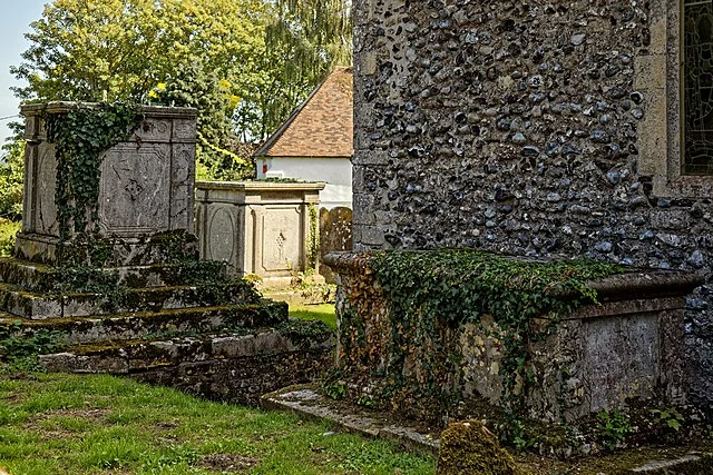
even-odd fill
[(31, 293), (18, 286), (0, 284), (0, 310), (33, 320), (258, 301), (260, 295), (243, 280), (197, 286), (125, 288), (115, 294), (64, 296)]

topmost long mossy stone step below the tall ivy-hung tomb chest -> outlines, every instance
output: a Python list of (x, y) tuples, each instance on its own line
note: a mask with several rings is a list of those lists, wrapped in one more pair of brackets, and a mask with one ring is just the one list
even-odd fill
[[(86, 269), (82, 269), (86, 273)], [(225, 267), (217, 263), (155, 264), (150, 266), (114, 267), (96, 269), (82, 277), (87, 286), (115, 281), (128, 288), (165, 287), (196, 283), (196, 273), (206, 271), (225, 275)], [(71, 274), (70, 274), (71, 276)], [(27, 291), (52, 293), (60, 288), (59, 270), (46, 264), (31, 263), (11, 257), (0, 258), (0, 283), (18, 286)], [(65, 284), (67, 284), (65, 281)]]

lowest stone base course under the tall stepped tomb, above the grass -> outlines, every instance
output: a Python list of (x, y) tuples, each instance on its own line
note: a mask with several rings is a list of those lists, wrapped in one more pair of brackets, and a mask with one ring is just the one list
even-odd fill
[(79, 345), (40, 356), (50, 372), (128, 375), (139, 382), (175, 387), (201, 397), (257, 405), (277, 388), (315, 380), (334, 364), (331, 331), (290, 328), (144, 342)]

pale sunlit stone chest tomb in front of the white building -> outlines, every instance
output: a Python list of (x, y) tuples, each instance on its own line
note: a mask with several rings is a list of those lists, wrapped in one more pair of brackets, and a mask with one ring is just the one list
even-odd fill
[(311, 229), (319, 232), (310, 207), (319, 206), (324, 184), (198, 181), (196, 188), (202, 259), (225, 261), (267, 285), (286, 285), (292, 274), (310, 268)]

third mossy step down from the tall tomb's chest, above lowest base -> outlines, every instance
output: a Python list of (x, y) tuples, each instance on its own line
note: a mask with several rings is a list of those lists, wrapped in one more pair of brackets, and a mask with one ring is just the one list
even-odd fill
[(0, 314), (0, 331), (8, 336), (32, 337), (45, 330), (58, 331), (61, 345), (137, 340), (150, 335), (199, 335), (231, 328), (264, 327), (287, 320), (287, 305), (263, 300), (260, 304), (184, 308), (130, 313), (111, 316), (31, 320)]

